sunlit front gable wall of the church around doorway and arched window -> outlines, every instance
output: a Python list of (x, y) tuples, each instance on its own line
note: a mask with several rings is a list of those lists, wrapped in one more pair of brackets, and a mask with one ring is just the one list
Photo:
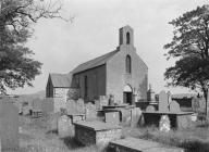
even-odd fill
[[(132, 59), (132, 73), (126, 74), (126, 55)], [(123, 88), (130, 85), (138, 100), (147, 100), (148, 68), (136, 54), (135, 48), (123, 46), (107, 64), (107, 94), (113, 94), (118, 103), (123, 103)]]

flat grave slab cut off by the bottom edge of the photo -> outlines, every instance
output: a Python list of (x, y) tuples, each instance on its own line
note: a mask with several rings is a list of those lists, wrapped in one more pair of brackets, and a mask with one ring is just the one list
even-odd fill
[(184, 152), (180, 148), (168, 147), (158, 142), (132, 137), (111, 141), (110, 148), (120, 152)]

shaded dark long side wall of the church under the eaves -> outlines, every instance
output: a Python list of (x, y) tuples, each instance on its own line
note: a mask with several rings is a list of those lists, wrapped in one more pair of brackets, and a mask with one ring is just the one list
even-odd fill
[[(85, 76), (87, 76), (87, 99), (85, 99)], [(106, 65), (101, 65), (73, 76), (73, 83), (77, 81), (81, 97), (85, 100), (91, 101), (99, 96), (106, 94)]]

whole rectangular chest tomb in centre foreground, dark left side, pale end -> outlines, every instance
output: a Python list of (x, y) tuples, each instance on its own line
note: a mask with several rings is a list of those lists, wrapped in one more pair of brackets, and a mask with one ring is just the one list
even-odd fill
[(77, 122), (75, 138), (83, 144), (108, 144), (109, 141), (121, 138), (122, 128), (119, 125), (103, 122)]

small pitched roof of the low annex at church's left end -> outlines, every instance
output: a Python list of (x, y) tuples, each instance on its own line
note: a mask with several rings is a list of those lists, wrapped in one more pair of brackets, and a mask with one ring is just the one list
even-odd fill
[(69, 88), (71, 87), (72, 76), (70, 74), (50, 74), (53, 87)]

